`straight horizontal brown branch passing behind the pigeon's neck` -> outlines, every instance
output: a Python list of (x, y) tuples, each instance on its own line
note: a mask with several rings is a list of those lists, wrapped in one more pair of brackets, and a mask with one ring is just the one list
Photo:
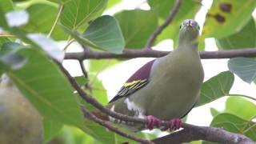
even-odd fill
[[(122, 54), (113, 54), (103, 51), (85, 51), (79, 53), (66, 53), (65, 59), (103, 59), (103, 58), (159, 58), (170, 53), (158, 50), (124, 50)], [(219, 59), (234, 57), (256, 57), (256, 48), (242, 50), (219, 50), (199, 52), (202, 59)]]

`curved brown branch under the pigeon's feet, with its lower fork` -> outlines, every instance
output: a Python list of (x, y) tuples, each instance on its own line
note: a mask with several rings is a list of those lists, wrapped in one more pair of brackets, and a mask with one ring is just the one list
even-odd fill
[[(58, 62), (57, 62), (58, 63)], [(106, 109), (104, 106), (102, 106), (101, 103), (99, 103), (97, 100), (95, 100), (94, 98), (92, 98), (89, 94), (86, 94), (86, 92), (84, 90), (82, 90), (80, 88), (80, 86), (78, 85), (78, 83), (74, 80), (74, 78), (72, 78), (72, 76), (69, 74), (69, 72), (62, 66), (62, 64), (58, 63), (58, 66), (60, 67), (60, 69), (62, 70), (62, 72), (64, 74), (66, 74), (66, 77), (68, 78), (68, 80), (70, 81), (70, 84), (74, 87), (75, 90), (77, 90), (78, 94), (84, 99), (86, 100), (86, 102), (90, 103), (91, 105), (95, 106), (96, 108), (98, 108), (98, 110), (101, 110), (103, 113), (110, 115), (113, 118), (118, 118), (122, 121), (125, 122), (136, 122), (136, 123), (141, 123), (146, 125), (146, 119), (142, 119), (142, 118), (134, 118), (134, 117), (130, 117), (124, 114), (118, 114), (114, 111), (111, 111), (110, 109)], [(97, 117), (95, 117), (93, 114), (91, 114), (90, 112), (87, 114), (87, 112), (85, 110), (83, 110), (85, 112), (86, 115), (89, 114), (89, 117), (92, 118), (95, 122), (98, 122), (99, 124), (101, 124), (102, 126), (106, 126), (107, 128), (109, 128), (110, 130), (113, 130), (114, 132), (116, 132), (117, 134), (120, 134), (126, 138), (132, 138), (135, 141), (138, 142), (142, 142), (142, 143), (150, 143), (149, 141), (142, 139), (142, 138), (138, 138), (132, 135), (127, 136), (126, 133), (113, 128), (113, 126), (108, 126), (106, 125), (107, 122), (102, 121), (101, 119), (97, 119)], [(169, 126), (169, 122), (166, 121), (161, 121), (160, 122), (160, 126)], [(182, 131), (178, 131), (176, 133), (174, 133), (174, 136), (172, 136), (173, 134), (170, 134), (169, 137), (170, 139), (172, 137), (179, 137), (178, 139), (184, 139), (187, 141), (193, 141), (193, 140), (198, 140), (198, 139), (202, 139), (202, 140), (206, 140), (206, 141), (211, 141), (211, 142), (220, 142), (220, 143), (241, 143), (241, 142), (247, 142), (247, 143), (253, 143), (253, 141), (250, 140), (250, 138), (246, 138), (245, 136), (241, 135), (241, 134), (232, 134), (226, 130), (222, 130), (219, 128), (214, 128), (214, 127), (208, 127), (208, 126), (193, 126), (190, 124), (186, 124), (186, 123), (182, 123), (182, 128), (184, 128), (184, 130)], [(188, 131), (188, 132), (186, 132)], [(175, 134), (182, 133), (181, 136), (175, 136)], [(185, 133), (185, 134), (183, 134)], [(187, 139), (185, 137), (186, 134), (190, 134), (190, 139)], [(166, 141), (169, 138), (164, 138), (166, 139)], [(181, 141), (180, 140), (180, 141)], [(162, 138), (157, 138), (154, 139), (154, 142), (162, 142), (163, 139)]]

